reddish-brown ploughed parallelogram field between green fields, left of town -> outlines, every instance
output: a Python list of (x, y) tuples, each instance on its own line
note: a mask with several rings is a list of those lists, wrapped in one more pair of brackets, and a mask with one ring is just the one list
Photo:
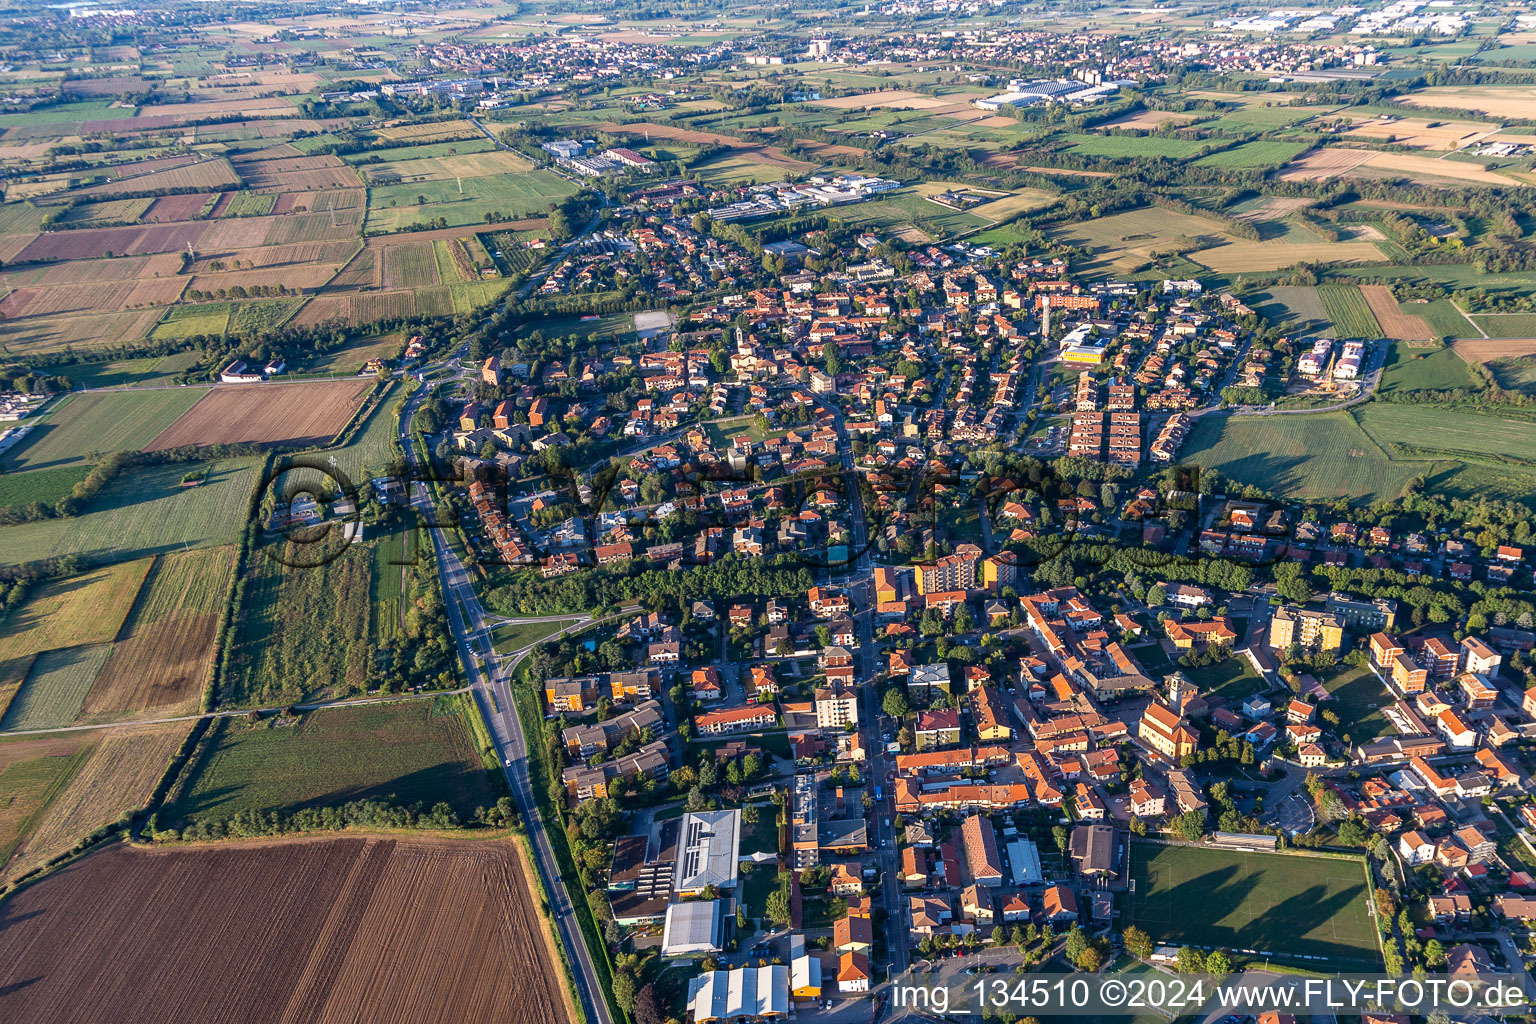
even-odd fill
[(210, 444), (324, 444), (347, 425), (372, 387), (369, 381), (214, 387), (146, 451)]

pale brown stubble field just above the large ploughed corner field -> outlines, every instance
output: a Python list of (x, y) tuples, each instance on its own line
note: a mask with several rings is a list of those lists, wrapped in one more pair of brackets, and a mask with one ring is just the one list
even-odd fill
[(86, 835), (112, 824), (127, 811), (138, 811), (166, 774), (170, 755), (192, 725), (166, 722), (88, 732), (84, 763), (71, 772), (63, 789), (22, 837), (0, 880), (15, 878), (66, 852)]

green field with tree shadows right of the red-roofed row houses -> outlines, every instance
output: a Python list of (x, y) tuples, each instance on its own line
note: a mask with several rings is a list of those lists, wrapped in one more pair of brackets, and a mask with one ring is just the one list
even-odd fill
[(1181, 457), (1284, 497), (1390, 500), (1427, 462), (1399, 462), (1344, 411), (1203, 416)]

